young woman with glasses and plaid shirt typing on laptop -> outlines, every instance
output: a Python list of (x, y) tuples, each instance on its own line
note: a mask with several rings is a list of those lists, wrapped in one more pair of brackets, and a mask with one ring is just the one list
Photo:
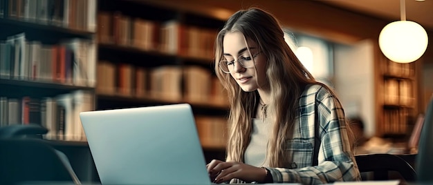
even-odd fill
[(297, 59), (272, 14), (233, 14), (216, 37), (215, 63), (230, 131), (226, 161), (207, 165), (214, 182), (360, 180), (340, 101)]

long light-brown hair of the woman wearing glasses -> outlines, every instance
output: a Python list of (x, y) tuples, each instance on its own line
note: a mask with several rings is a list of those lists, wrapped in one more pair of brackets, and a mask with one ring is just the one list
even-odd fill
[[(268, 143), (267, 161), (270, 167), (283, 167), (287, 160), (284, 142), (290, 135), (297, 115), (298, 97), (308, 84), (324, 84), (315, 81), (313, 75), (302, 65), (284, 40), (284, 32), (272, 14), (259, 8), (239, 10), (234, 13), (218, 33), (215, 43), (215, 72), (230, 102), (228, 117), (229, 139), (227, 160), (243, 162), (243, 154), (250, 142), (252, 117), (257, 106), (257, 90), (244, 92), (232, 79), (219, 69), (223, 57), (223, 39), (228, 32), (241, 32), (248, 41), (266, 55), (266, 80), (270, 88), (269, 115), (273, 130)], [(248, 46), (248, 43), (246, 43)], [(247, 47), (248, 48), (248, 47)], [(331, 93), (333, 91), (328, 88)], [(333, 93), (335, 95), (335, 93)], [(296, 98), (294, 98), (296, 97)], [(349, 128), (348, 128), (349, 129)]]

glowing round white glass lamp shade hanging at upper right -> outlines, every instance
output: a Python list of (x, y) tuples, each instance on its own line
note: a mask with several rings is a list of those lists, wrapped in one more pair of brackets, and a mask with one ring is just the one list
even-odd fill
[(414, 21), (394, 21), (379, 35), (383, 54), (398, 63), (416, 61), (427, 49), (428, 37), (424, 28)]

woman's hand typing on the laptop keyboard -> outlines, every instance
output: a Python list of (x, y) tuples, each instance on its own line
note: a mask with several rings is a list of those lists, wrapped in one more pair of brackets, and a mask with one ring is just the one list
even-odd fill
[(208, 173), (212, 182), (221, 183), (237, 178), (244, 182), (264, 182), (266, 169), (250, 166), (240, 162), (222, 162), (212, 160), (208, 165)]

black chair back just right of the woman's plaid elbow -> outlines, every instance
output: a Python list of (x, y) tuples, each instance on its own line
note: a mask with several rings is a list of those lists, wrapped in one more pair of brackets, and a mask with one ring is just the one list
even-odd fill
[[(415, 182), (416, 180), (414, 168), (398, 155), (385, 153), (355, 155), (355, 159), (362, 177), (365, 177), (365, 173), (373, 175), (371, 179), (362, 180), (403, 179), (405, 182)], [(396, 172), (398, 175), (392, 176), (392, 172)]]

